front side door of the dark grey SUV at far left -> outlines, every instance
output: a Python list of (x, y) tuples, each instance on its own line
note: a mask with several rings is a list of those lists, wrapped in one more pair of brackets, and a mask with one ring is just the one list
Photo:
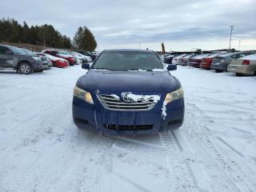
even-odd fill
[(0, 46), (0, 68), (13, 68), (17, 62), (10, 49), (6, 46)]

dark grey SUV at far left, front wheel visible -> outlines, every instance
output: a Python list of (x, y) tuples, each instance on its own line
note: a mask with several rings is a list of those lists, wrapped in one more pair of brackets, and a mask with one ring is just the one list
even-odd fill
[(35, 71), (42, 72), (44, 66), (41, 58), (26, 54), (15, 46), (0, 44), (0, 70), (14, 69), (20, 74), (31, 74)]

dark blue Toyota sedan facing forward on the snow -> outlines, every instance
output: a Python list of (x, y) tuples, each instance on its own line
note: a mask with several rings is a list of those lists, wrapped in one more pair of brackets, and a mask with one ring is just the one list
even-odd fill
[(78, 128), (103, 134), (154, 134), (182, 126), (183, 90), (152, 50), (104, 50), (74, 86)]

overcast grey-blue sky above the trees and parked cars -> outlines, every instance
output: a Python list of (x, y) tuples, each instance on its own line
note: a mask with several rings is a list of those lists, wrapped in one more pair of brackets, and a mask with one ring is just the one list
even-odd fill
[[(51, 24), (74, 37), (87, 26), (107, 48), (256, 49), (256, 0), (1, 0), (0, 17)], [(0, 31), (1, 33), (1, 31)]]

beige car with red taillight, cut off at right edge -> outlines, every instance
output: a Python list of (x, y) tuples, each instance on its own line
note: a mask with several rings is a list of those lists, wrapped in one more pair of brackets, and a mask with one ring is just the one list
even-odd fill
[(256, 54), (250, 54), (243, 58), (234, 58), (227, 68), (236, 75), (256, 75)]

